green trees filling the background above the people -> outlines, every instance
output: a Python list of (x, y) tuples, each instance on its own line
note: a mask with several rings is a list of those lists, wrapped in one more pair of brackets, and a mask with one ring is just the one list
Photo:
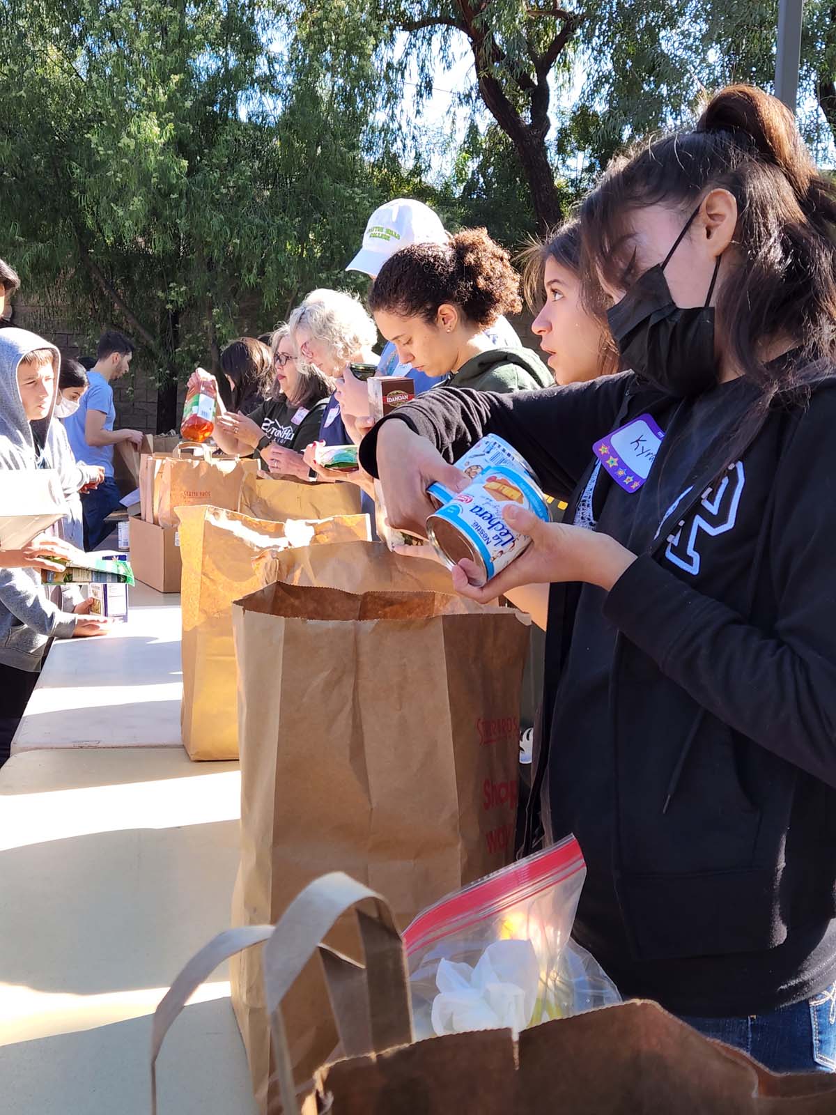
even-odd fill
[[(0, 255), (28, 293), (70, 299), (90, 339), (123, 327), (161, 381), (182, 376), (315, 285), (362, 288), (343, 268), (393, 196), (518, 246), (626, 140), (691, 119), (728, 80), (768, 87), (777, 11), (778, 0), (6, 0)], [(434, 130), (421, 106), (463, 54), (468, 77)], [(836, 7), (808, 0), (801, 123), (827, 153), (834, 74)]]

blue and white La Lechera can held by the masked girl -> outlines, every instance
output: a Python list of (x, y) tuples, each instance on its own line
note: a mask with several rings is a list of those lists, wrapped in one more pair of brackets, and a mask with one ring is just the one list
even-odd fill
[(548, 506), (531, 469), (523, 473), (507, 465), (483, 468), (464, 492), (450, 495), (427, 520), (427, 534), (444, 563), (453, 569), (463, 558), (469, 559), (478, 570), (473, 583), (482, 585), (518, 558), (532, 540), (503, 518), (509, 503), (526, 507), (544, 523), (550, 521)]

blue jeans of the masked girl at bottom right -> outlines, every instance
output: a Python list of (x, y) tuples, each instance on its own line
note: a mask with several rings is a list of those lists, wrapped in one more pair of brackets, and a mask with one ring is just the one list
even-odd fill
[(804, 1002), (746, 1018), (682, 1017), (774, 1073), (836, 1072), (836, 983)]

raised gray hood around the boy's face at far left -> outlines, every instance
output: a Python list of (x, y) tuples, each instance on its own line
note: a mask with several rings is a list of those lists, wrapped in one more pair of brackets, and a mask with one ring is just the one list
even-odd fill
[[(52, 403), (46, 418), (30, 423), (23, 411), (18, 387), (18, 365), (33, 349), (50, 349), (55, 368)], [(49, 424), (58, 395), (61, 357), (55, 345), (27, 329), (0, 329), (0, 465), (32, 467), (36, 458), (35, 435), (46, 445)]]

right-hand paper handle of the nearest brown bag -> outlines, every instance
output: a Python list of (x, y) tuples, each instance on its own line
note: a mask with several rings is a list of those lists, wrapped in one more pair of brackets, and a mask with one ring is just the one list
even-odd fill
[[(373, 915), (356, 911), (366, 958), (361, 968), (319, 942), (343, 913), (367, 900)], [(284, 1115), (300, 1115), (300, 1107), (281, 1005), (318, 950), (347, 1055), (382, 1053), (414, 1040), (407, 962), (388, 903), (341, 871), (314, 880), (288, 906), (262, 953)]]

